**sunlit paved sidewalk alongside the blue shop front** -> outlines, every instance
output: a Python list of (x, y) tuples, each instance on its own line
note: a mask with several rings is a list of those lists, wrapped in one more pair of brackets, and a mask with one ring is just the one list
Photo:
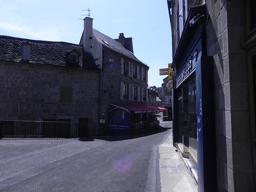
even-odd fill
[(161, 192), (197, 192), (197, 185), (172, 145), (172, 131), (159, 145)]

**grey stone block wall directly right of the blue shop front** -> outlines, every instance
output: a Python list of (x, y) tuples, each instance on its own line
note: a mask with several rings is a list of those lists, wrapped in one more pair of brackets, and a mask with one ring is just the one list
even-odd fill
[(241, 49), (244, 1), (206, 1), (206, 7), (210, 14), (207, 55), (214, 59), (218, 191), (250, 191), (248, 82), (246, 55)]

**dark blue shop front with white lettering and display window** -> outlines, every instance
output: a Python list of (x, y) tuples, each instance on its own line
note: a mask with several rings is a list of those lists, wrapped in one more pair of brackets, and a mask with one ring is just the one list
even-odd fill
[[(188, 17), (197, 14), (204, 14), (204, 6), (190, 10)], [(204, 34), (204, 25), (186, 23), (173, 58), (173, 146), (189, 158), (198, 191), (212, 191), (216, 186), (213, 59), (207, 56)]]

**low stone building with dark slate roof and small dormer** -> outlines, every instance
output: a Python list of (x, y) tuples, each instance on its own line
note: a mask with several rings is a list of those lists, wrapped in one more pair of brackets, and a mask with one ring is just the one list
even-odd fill
[(101, 70), (82, 45), (0, 36), (0, 69), (0, 120), (97, 122)]

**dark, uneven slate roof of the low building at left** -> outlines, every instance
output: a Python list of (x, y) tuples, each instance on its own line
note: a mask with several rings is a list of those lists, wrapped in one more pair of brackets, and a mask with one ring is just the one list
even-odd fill
[(79, 61), (72, 67), (99, 70), (92, 55), (84, 51), (83, 45), (2, 35), (0, 35), (0, 60), (24, 62), (22, 61), (23, 43), (31, 44), (29, 63), (67, 66), (66, 55), (71, 51), (76, 51), (79, 54)]

